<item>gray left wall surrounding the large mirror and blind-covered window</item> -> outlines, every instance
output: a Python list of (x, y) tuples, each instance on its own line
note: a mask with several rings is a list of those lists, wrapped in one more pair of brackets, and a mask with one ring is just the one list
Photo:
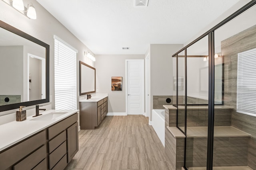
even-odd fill
[[(37, 13), (37, 19), (32, 20), (20, 14), (3, 1), (0, 1), (0, 20), (32, 35), (33, 37), (50, 45), (50, 95), (52, 95), (52, 108), (54, 109), (54, 39), (53, 35), (57, 35), (74, 48), (78, 49), (77, 54), (77, 87), (79, 89), (79, 61), (83, 61), (94, 66), (94, 62), (84, 57), (84, 51), (88, 51), (81, 41), (79, 41), (66, 27), (64, 27), (56, 18), (46, 11), (36, 0), (23, 0), (24, 4), (32, 2)], [(90, 50), (89, 50), (90, 51)], [(90, 51), (91, 53), (91, 51)], [(78, 97), (79, 97), (79, 90)], [(78, 105), (79, 106), (79, 105)], [(13, 113), (13, 111), (5, 111), (0, 115)]]

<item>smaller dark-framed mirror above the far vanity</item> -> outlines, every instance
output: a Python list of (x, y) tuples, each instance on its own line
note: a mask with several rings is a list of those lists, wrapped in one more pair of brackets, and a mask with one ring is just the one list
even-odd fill
[(82, 61), (80, 63), (80, 96), (95, 93), (96, 69)]

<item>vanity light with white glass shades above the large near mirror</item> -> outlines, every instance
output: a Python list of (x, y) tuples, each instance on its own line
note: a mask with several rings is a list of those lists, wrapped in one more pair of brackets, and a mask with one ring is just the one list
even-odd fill
[(6, 4), (13, 7), (15, 10), (23, 14), (24, 16), (27, 16), (31, 19), (36, 19), (36, 9), (34, 8), (33, 4), (31, 2), (28, 3), (28, 6), (25, 7), (23, 0), (2, 0)]

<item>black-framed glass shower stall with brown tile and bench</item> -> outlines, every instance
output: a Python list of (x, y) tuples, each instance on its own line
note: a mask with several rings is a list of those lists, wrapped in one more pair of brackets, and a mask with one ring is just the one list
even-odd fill
[(186, 170), (256, 170), (255, 4), (172, 56)]

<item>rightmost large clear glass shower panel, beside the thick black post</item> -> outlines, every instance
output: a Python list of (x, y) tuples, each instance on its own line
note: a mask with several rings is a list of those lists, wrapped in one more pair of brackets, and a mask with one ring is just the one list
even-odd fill
[(256, 7), (214, 31), (213, 167), (222, 170), (256, 169), (256, 20), (252, 16)]

